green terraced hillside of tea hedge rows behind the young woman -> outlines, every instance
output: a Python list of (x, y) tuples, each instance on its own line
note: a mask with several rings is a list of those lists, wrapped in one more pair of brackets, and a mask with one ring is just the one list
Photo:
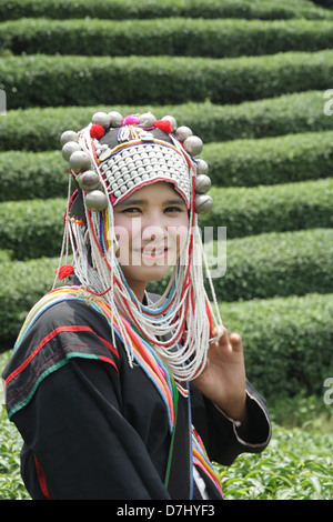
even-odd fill
[[(310, 0), (0, 1), (1, 350), (58, 265), (59, 137), (98, 110), (173, 114), (226, 227), (224, 323), (268, 396), (333, 375), (333, 12)], [(134, 104), (135, 103), (135, 104)]]

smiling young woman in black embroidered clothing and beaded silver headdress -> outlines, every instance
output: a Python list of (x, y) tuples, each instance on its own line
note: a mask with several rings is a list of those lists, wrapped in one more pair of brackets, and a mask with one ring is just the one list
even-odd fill
[[(32, 499), (222, 499), (211, 461), (262, 451), (271, 425), (202, 250), (202, 142), (172, 117), (114, 111), (61, 142), (68, 281), (28, 314), (3, 372), (26, 486)], [(164, 277), (163, 295), (149, 293)]]

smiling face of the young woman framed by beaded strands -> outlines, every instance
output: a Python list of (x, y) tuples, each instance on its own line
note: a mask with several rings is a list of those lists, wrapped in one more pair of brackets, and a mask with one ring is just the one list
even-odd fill
[(118, 261), (142, 300), (147, 283), (176, 263), (188, 238), (188, 209), (173, 185), (162, 181), (137, 190), (113, 210)]

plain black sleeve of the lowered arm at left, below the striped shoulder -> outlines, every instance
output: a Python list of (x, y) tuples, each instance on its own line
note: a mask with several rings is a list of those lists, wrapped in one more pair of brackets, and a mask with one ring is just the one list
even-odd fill
[(121, 414), (110, 365), (71, 359), (13, 415), (26, 441), (22, 476), (44, 498), (34, 455), (53, 499), (169, 499), (143, 441)]

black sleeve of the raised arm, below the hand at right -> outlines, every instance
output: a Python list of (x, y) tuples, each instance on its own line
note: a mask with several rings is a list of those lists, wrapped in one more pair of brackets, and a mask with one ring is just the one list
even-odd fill
[(271, 422), (264, 399), (246, 381), (248, 423), (244, 430), (224, 415), (210, 400), (191, 385), (192, 421), (209, 458), (230, 465), (244, 452), (260, 453), (270, 442)]

